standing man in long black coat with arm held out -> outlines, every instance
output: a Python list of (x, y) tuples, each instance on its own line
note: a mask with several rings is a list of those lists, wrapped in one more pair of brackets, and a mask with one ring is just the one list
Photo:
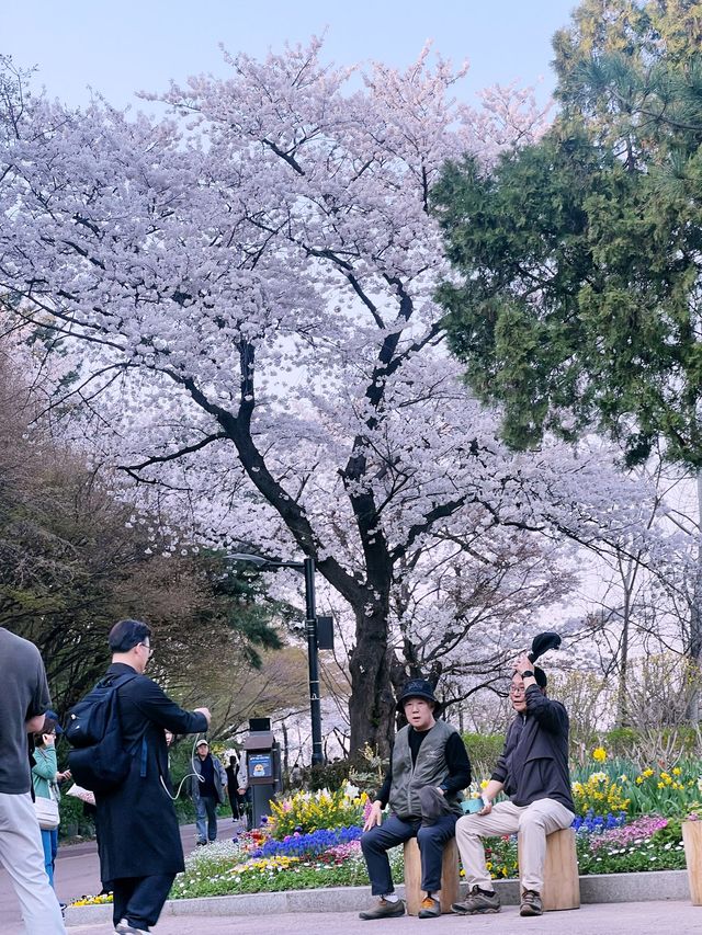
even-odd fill
[(137, 673), (117, 687), (125, 748), (135, 754), (125, 782), (95, 795), (100, 875), (112, 882), (115, 932), (131, 935), (156, 925), (176, 875), (184, 869), (165, 731), (206, 731), (210, 711), (183, 710), (143, 674), (152, 652), (146, 624), (120, 620), (110, 631), (110, 647), (109, 676)]

